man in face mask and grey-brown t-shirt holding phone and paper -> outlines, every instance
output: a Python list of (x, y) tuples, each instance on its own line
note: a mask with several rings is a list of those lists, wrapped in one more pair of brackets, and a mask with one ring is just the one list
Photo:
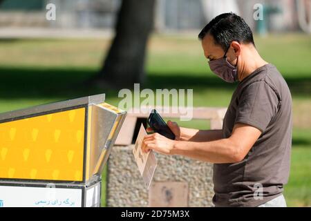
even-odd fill
[(238, 15), (218, 15), (198, 37), (211, 70), (227, 82), (239, 81), (223, 129), (202, 131), (169, 121), (176, 140), (153, 133), (144, 137), (143, 150), (214, 163), (215, 206), (286, 206), (292, 144), (288, 85), (258, 54), (252, 31)]

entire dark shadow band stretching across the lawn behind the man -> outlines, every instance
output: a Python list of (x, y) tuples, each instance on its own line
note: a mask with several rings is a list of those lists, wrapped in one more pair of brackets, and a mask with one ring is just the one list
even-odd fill
[[(94, 87), (87, 84), (87, 79), (96, 75), (94, 70), (55, 69), (55, 68), (0, 68), (0, 98), (53, 98), (82, 97), (97, 93), (117, 96), (118, 90)], [(299, 75), (297, 75), (299, 76)], [(124, 80), (124, 79), (120, 79)], [(303, 78), (287, 78), (293, 95), (311, 95), (311, 76)], [(236, 84), (227, 84), (212, 75), (158, 75), (149, 73), (146, 84), (142, 88), (206, 88), (234, 90)], [(133, 86), (130, 88), (133, 89)]]

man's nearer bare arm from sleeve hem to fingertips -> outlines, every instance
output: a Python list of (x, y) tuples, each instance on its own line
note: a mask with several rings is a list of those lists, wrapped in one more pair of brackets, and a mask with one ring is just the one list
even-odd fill
[(247, 124), (236, 124), (232, 135), (211, 142), (170, 140), (159, 133), (144, 137), (142, 150), (150, 149), (168, 155), (183, 155), (215, 164), (240, 162), (255, 144), (261, 131)]

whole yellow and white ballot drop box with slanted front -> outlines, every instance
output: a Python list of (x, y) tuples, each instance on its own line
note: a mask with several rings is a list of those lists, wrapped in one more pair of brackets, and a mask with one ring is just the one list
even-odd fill
[(126, 112), (93, 95), (0, 114), (0, 206), (99, 206)]

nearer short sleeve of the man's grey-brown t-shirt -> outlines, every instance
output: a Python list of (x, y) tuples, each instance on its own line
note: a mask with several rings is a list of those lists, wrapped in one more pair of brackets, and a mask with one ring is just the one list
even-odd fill
[(276, 115), (279, 99), (265, 81), (249, 84), (240, 95), (235, 123), (248, 124), (265, 131)]

